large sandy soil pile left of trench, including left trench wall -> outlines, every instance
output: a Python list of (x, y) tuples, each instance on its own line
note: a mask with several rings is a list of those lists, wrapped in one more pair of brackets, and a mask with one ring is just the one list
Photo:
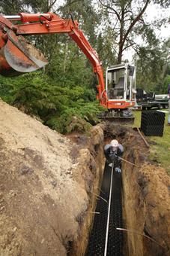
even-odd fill
[(79, 136), (79, 146), (2, 101), (0, 108), (0, 255), (83, 254), (103, 130)]

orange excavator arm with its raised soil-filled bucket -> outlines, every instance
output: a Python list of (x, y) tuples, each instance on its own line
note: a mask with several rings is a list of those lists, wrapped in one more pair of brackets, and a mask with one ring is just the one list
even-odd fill
[[(19, 21), (19, 24), (13, 25), (12, 21)], [(40, 51), (28, 44), (22, 36), (55, 33), (67, 33), (88, 57), (98, 78), (97, 98), (100, 99), (100, 105), (108, 108), (103, 68), (99, 56), (79, 29), (78, 22), (72, 17), (64, 20), (52, 13), (0, 15), (0, 74), (19, 75), (45, 66), (47, 62)]]

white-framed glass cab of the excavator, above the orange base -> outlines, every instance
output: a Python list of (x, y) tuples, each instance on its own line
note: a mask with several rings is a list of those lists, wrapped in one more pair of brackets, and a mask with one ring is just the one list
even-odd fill
[(134, 70), (135, 67), (127, 62), (106, 69), (106, 93), (109, 101), (135, 101)]

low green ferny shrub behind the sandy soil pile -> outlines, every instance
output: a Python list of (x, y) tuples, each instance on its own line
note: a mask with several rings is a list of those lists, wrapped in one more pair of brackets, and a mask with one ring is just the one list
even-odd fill
[(18, 78), (1, 77), (0, 96), (60, 133), (89, 130), (99, 121), (97, 114), (103, 111), (94, 100), (93, 89), (79, 85), (63, 87), (42, 72)]

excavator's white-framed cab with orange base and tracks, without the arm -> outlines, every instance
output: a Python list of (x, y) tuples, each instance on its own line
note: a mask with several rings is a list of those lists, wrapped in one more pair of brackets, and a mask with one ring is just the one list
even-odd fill
[(128, 62), (106, 69), (106, 96), (108, 111), (101, 119), (116, 123), (133, 123), (131, 108), (136, 102), (135, 67)]

